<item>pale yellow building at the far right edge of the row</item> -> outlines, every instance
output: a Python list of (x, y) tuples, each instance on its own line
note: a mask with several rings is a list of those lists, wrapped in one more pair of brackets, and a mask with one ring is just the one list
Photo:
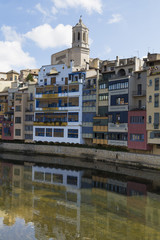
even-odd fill
[(153, 153), (160, 153), (160, 54), (147, 59), (147, 137)]

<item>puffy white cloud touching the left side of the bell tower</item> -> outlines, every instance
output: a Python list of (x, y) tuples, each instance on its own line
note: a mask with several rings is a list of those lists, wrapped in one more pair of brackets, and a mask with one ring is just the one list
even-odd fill
[(49, 24), (43, 24), (25, 34), (25, 37), (34, 41), (40, 48), (54, 48), (71, 46), (72, 26), (63, 24), (52, 28)]

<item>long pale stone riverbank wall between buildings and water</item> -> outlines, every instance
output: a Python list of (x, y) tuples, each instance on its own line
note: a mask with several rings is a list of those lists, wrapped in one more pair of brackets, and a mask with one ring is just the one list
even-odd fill
[[(94, 148), (79, 148), (58, 145), (38, 145), (23, 143), (0, 143), (0, 152), (22, 153), (24, 155), (50, 155), (80, 158), (85, 162), (109, 163), (114, 165), (135, 166), (138, 168), (154, 168), (160, 170), (160, 156), (149, 154), (137, 154), (128, 152), (116, 152)], [(44, 158), (45, 162), (45, 158)]]

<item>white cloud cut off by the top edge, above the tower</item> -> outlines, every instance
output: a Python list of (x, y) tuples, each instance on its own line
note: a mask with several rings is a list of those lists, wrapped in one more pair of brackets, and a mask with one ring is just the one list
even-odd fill
[(102, 0), (52, 0), (56, 9), (82, 8), (91, 14), (102, 13)]

